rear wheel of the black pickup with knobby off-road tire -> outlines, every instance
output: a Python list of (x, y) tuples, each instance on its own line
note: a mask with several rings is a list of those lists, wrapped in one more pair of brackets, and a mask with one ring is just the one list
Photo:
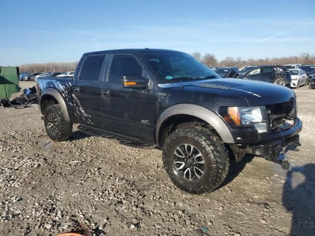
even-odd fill
[[(56, 118), (56, 132), (53, 132), (51, 128), (49, 128), (48, 124), (49, 116), (54, 116)], [(51, 104), (48, 105), (44, 112), (44, 124), (48, 137), (57, 142), (61, 142), (70, 138), (72, 133), (72, 123), (67, 121), (61, 110), (59, 104)]]

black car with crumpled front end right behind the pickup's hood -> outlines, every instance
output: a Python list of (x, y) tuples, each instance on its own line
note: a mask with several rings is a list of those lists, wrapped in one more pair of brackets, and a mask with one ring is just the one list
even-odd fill
[(290, 71), (281, 65), (261, 65), (236, 78), (250, 79), (290, 87)]

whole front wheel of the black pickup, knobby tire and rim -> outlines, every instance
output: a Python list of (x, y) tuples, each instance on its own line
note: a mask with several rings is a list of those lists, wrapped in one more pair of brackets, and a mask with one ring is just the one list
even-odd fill
[(167, 137), (162, 155), (172, 182), (192, 194), (215, 190), (227, 176), (227, 149), (221, 139), (206, 128), (174, 131)]

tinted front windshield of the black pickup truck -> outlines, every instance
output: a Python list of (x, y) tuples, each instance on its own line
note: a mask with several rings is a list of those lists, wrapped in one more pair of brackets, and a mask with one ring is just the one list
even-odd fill
[(161, 83), (178, 82), (181, 79), (220, 78), (206, 65), (185, 53), (143, 53), (142, 56)]

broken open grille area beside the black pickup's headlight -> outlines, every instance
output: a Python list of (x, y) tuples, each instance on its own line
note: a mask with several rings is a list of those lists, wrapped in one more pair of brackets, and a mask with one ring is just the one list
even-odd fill
[(284, 103), (268, 105), (266, 109), (270, 133), (285, 131), (295, 126), (294, 119), (297, 117), (295, 99)]

